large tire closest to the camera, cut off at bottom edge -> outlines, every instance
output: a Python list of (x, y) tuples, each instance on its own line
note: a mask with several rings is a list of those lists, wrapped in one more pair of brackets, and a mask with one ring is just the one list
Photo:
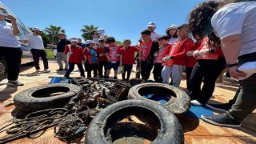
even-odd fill
[[(174, 114), (162, 105), (143, 100), (125, 100), (107, 106), (90, 122), (86, 131), (86, 143), (112, 143), (111, 138), (106, 138), (107, 133), (110, 133), (110, 125), (115, 126), (116, 122), (127, 118), (128, 115), (144, 114), (142, 111), (148, 112), (147, 116), (154, 118), (148, 119), (148, 122), (156, 121), (160, 127), (156, 138), (151, 142), (152, 144), (184, 143), (182, 126)], [(152, 127), (152, 125), (149, 126)]]

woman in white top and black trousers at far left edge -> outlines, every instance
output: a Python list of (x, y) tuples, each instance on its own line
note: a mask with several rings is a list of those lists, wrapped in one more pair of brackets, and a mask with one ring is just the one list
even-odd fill
[[(10, 19), (6, 22), (5, 18)], [(4, 56), (8, 68), (7, 86), (23, 86), (18, 82), (19, 66), (21, 64), (22, 50), (15, 35), (20, 34), (16, 18), (8, 15), (6, 10), (0, 8), (0, 59)]]

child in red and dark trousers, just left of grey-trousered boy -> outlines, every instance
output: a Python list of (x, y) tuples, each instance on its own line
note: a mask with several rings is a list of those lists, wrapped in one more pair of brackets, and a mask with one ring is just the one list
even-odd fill
[(161, 71), (164, 66), (164, 62), (162, 58), (166, 57), (170, 50), (170, 45), (168, 42), (170, 41), (170, 37), (168, 35), (163, 35), (159, 38), (160, 48), (158, 50), (158, 54), (154, 54), (154, 81), (155, 82), (162, 82)]

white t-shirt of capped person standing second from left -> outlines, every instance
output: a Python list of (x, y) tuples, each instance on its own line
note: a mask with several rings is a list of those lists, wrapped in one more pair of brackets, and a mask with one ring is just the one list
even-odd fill
[(31, 49), (45, 50), (42, 37), (40, 35), (35, 36), (33, 34), (26, 34), (26, 40), (29, 41)]

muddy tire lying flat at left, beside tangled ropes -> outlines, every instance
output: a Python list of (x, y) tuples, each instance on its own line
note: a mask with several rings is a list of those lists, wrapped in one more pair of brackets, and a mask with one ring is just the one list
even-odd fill
[[(62, 107), (80, 90), (81, 87), (68, 83), (32, 87), (14, 96), (14, 106), (18, 110), (32, 111)], [(53, 93), (57, 94), (51, 96)]]

